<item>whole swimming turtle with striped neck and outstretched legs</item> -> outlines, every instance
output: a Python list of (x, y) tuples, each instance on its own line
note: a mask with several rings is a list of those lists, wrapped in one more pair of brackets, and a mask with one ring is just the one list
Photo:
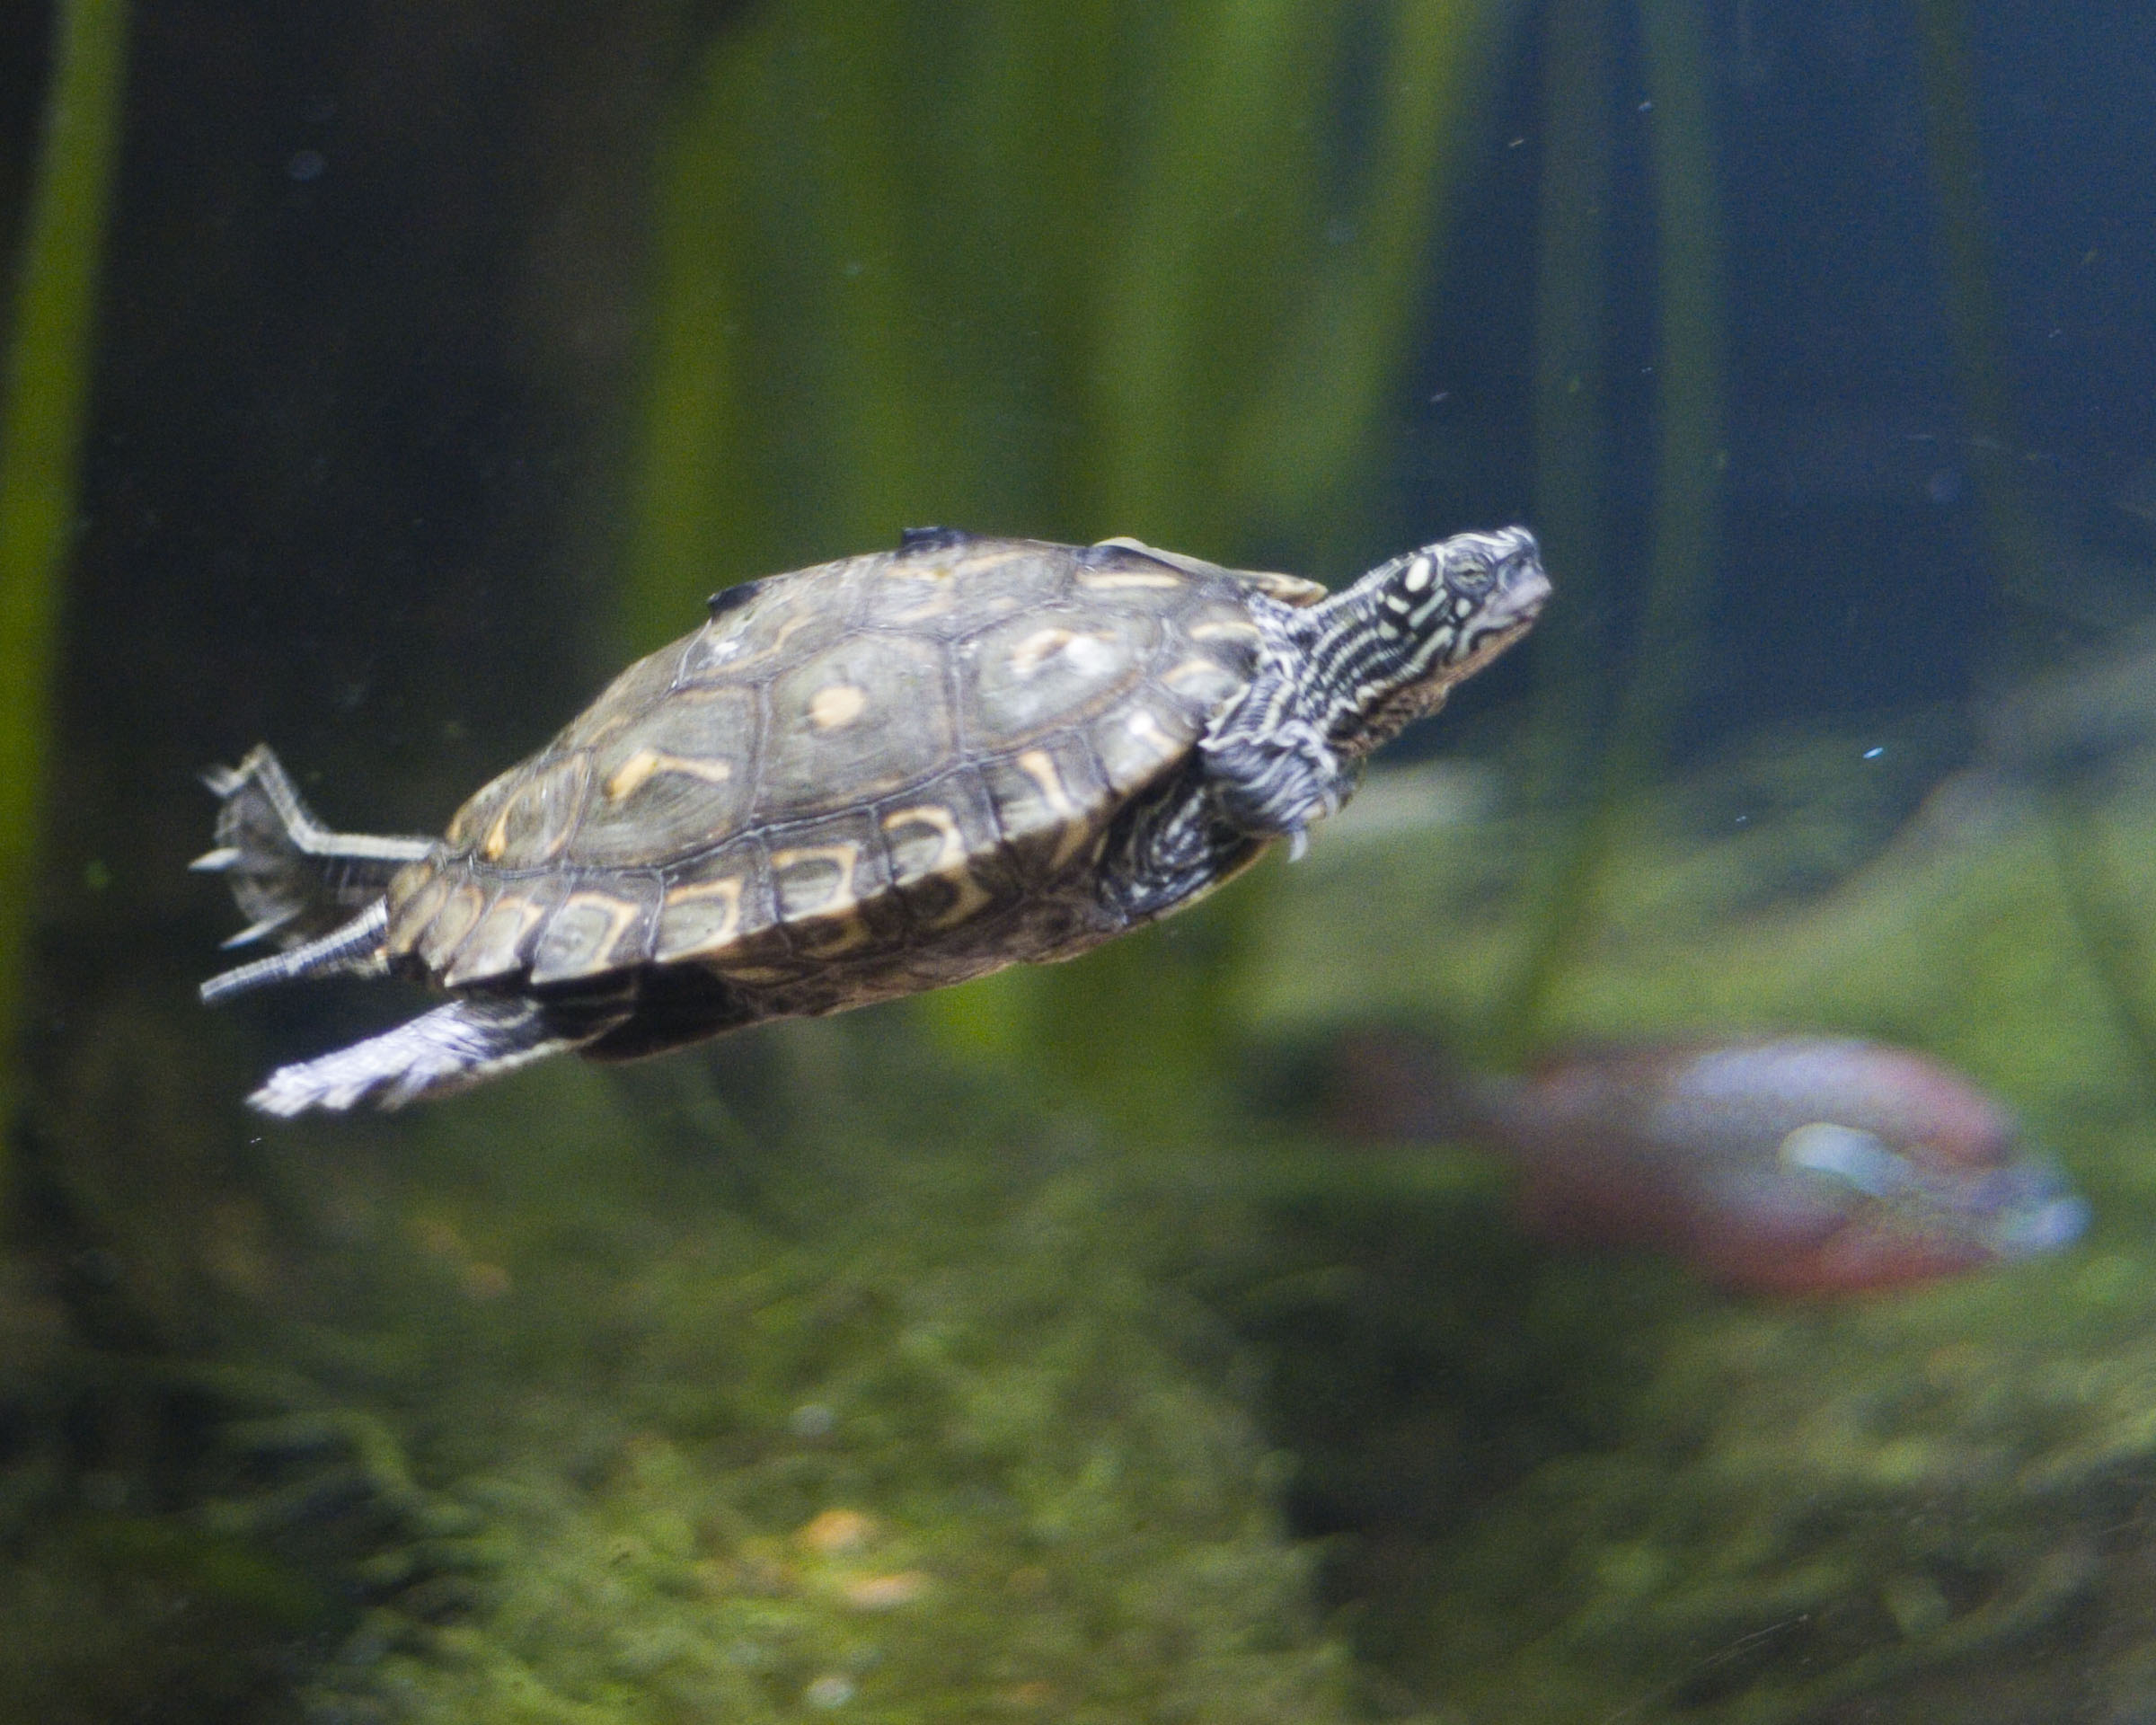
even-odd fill
[(1134, 539), (916, 528), (718, 593), (440, 839), (326, 830), (267, 748), (211, 770), (194, 867), (252, 919), (229, 944), (285, 951), (203, 998), (323, 975), (448, 992), (248, 1098), (298, 1115), (1072, 957), (1300, 850), (1548, 591), (1524, 528), (1335, 597)]

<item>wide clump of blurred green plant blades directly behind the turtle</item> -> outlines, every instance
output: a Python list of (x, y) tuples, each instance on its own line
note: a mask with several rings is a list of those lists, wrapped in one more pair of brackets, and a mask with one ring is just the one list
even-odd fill
[[(660, 168), (634, 645), (714, 582), (923, 524), (1352, 574), (1516, 11), (789, 0), (729, 30)], [(921, 1011), (1175, 1136), (1270, 873)]]

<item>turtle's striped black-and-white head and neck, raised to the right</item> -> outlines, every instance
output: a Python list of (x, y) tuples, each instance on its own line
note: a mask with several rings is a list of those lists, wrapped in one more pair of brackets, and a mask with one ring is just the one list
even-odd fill
[(1367, 755), (1442, 707), (1453, 684), (1526, 634), (1548, 597), (1535, 535), (1507, 526), (1395, 556), (1304, 612), (1332, 748)]

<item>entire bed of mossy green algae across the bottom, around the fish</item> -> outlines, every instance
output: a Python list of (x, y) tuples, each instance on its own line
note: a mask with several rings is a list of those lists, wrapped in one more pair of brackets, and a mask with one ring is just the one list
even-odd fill
[[(1878, 735), (1897, 776), (1861, 761)], [(1921, 1041), (2091, 1195), (2081, 1253), (1712, 1300), (1520, 1240), (1464, 1154), (1227, 1104), (1134, 1145), (903, 1013), (780, 1026), (280, 1132), (224, 1175), (274, 1227), (196, 1197), (207, 1264), (127, 1285), (211, 1289), (220, 1339), (110, 1367), (211, 1414), (188, 1537), (138, 1561), (198, 1598), (226, 1576), (272, 1639), (276, 1565), (338, 1600), (321, 1719), (1733, 1725), (1981, 1719), (1964, 1688), (2001, 1671), (2029, 1706), (2126, 1693), (2156, 1466), (2139, 1065), (2040, 791), (1938, 783), (1949, 748), (1921, 720), (1774, 737), (1671, 785), (1623, 822), (1554, 1018)], [(2132, 916), (2152, 824), (2134, 772), (2089, 809)], [(1473, 1024), (1537, 832), (1485, 772), (1380, 778), (1281, 873), (1231, 1031)], [(129, 1201), (181, 1188), (93, 1173), (78, 1203), (134, 1255)]]

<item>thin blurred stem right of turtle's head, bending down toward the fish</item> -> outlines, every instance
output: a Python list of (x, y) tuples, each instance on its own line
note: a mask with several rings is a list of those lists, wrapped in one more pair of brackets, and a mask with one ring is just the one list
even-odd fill
[(1539, 906), (1520, 983), (1503, 1016), (1514, 1052), (1544, 1026), (1548, 1003), (1595, 927), (1602, 873), (1626, 804), (1662, 759), (1699, 662), (1723, 466), (1720, 237), (1714, 194), (1705, 22), (1697, 0), (1643, 0), (1649, 172), (1656, 203), (1656, 472), (1647, 604), (1632, 668)]

